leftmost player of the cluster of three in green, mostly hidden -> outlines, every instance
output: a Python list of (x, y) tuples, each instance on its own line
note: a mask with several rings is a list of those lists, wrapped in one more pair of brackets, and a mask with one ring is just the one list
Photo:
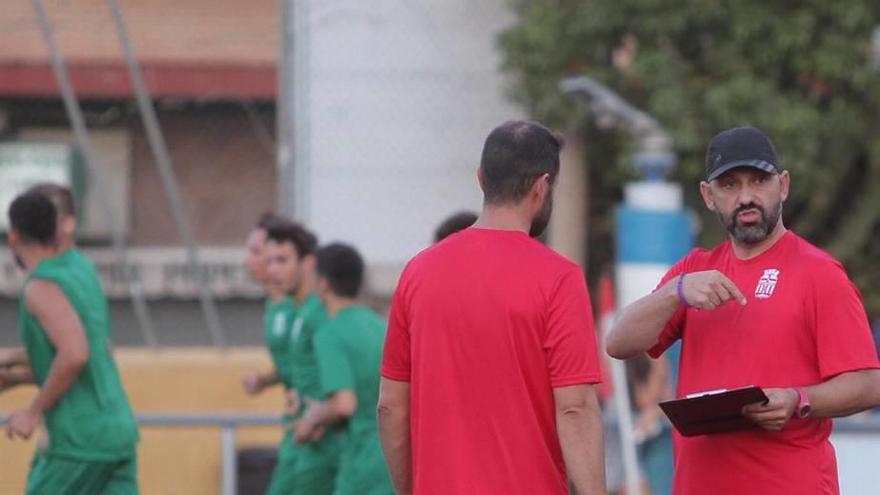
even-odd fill
[[(258, 395), (264, 390), (281, 384), (285, 396), (290, 390), (290, 328), (296, 314), (293, 299), (277, 284), (269, 279), (269, 256), (266, 249), (266, 229), (275, 222), (283, 222), (283, 217), (265, 213), (247, 237), (247, 255), (244, 266), (251, 278), (266, 291), (266, 305), (263, 312), (263, 340), (272, 358), (272, 369), (259, 373), (250, 371), (242, 376), (242, 387), (250, 395)], [(290, 493), (292, 491), (292, 466), (295, 460), (293, 435), (287, 426), (292, 421), (285, 415), (282, 424), (284, 435), (278, 446), (278, 462), (272, 472), (270, 493)]]

